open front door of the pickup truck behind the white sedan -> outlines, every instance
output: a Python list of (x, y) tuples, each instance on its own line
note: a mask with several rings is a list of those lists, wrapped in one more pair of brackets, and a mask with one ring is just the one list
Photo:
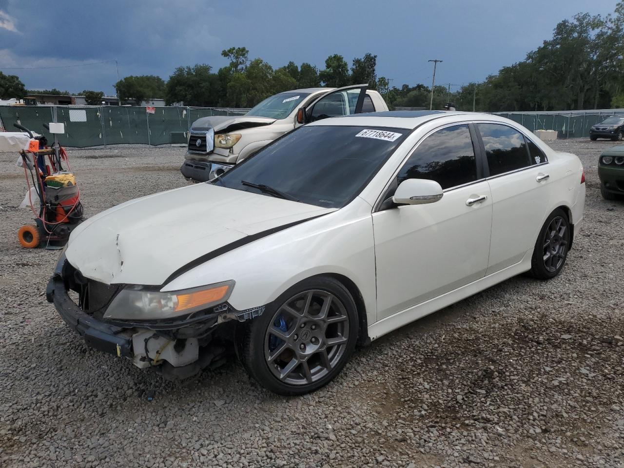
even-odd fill
[(360, 114), (364, 106), (366, 89), (368, 84), (358, 84), (334, 89), (321, 95), (306, 107), (305, 123), (341, 115)]

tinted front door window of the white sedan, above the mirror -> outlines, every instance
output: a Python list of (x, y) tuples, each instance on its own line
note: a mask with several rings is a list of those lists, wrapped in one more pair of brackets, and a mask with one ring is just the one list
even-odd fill
[(435, 180), (442, 188), (477, 180), (477, 164), (468, 125), (454, 125), (429, 135), (409, 157), (398, 175)]

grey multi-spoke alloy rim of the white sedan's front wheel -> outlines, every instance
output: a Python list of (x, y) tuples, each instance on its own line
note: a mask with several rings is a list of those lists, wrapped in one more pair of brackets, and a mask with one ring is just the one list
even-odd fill
[(308, 290), (286, 301), (265, 334), (265, 361), (283, 383), (311, 384), (337, 366), (347, 349), (349, 319), (335, 295)]

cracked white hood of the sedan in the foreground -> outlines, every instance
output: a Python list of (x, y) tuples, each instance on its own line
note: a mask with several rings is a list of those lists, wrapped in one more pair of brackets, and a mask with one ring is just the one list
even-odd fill
[(66, 256), (92, 280), (163, 285), (174, 271), (218, 248), (335, 210), (200, 183), (89, 218), (72, 232)]

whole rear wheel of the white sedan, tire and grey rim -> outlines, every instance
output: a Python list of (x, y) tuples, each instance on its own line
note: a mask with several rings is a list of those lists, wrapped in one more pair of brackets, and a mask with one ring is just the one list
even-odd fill
[(550, 213), (540, 229), (531, 258), (531, 274), (538, 280), (550, 280), (565, 265), (570, 246), (570, 221), (560, 208)]

